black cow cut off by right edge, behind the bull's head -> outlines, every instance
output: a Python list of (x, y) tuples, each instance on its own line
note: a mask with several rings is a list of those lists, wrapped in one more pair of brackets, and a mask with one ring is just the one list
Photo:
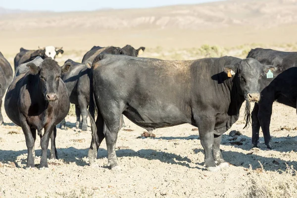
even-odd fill
[(277, 100), (288, 106), (296, 107), (297, 74), (295, 74), (295, 68), (289, 68), (297, 67), (297, 52), (256, 48), (251, 49), (247, 57), (255, 58), (262, 64), (273, 65), (277, 68), (273, 78), (262, 78), (260, 89), (262, 99), (255, 103), (251, 113), (252, 147), (258, 146), (261, 127), (265, 145), (272, 149), (269, 125), (273, 101)]

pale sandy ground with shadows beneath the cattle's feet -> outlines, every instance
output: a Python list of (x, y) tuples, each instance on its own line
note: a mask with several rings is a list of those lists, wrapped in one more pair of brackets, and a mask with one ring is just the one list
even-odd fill
[[(3, 108), (2, 108), (3, 109)], [(0, 197), (238, 197), (247, 189), (248, 171), (261, 163), (265, 170), (285, 170), (286, 164), (297, 168), (296, 110), (274, 103), (271, 121), (273, 150), (267, 150), (263, 138), (260, 148), (250, 149), (251, 129), (243, 130), (241, 117), (223, 136), (221, 149), (232, 164), (219, 172), (203, 167), (203, 149), (195, 127), (184, 124), (154, 131), (156, 138), (140, 139), (145, 130), (128, 119), (118, 137), (116, 151), (121, 171), (107, 167), (106, 145), (98, 152), (98, 167), (90, 167), (87, 154), (90, 131), (75, 129), (75, 118), (67, 116), (67, 130), (57, 131), (58, 160), (49, 160), (49, 169), (25, 170), (27, 149), (20, 127), (5, 116), (0, 133)], [(283, 127), (287, 127), (283, 129)], [(229, 132), (242, 133), (231, 145)], [(40, 140), (35, 144), (35, 164), (40, 163)], [(16, 167), (15, 167), (16, 166)]]

